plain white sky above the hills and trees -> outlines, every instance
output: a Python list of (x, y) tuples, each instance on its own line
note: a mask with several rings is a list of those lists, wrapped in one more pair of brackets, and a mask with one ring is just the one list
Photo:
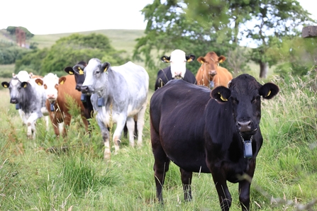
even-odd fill
[[(316, 0), (298, 0), (317, 20)], [(3, 0), (0, 29), (23, 26), (45, 35), (101, 29), (145, 29), (140, 12), (153, 0)]]

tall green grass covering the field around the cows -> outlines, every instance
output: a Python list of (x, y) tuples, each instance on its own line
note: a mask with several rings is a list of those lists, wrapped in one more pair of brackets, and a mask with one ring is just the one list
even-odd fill
[[(303, 79), (275, 77), (273, 82), (281, 91), (262, 101), (264, 143), (257, 156), (250, 207), (296, 210), (317, 198), (316, 69)], [(46, 131), (44, 120), (38, 120), (35, 139), (26, 139), (18, 113), (9, 104), (9, 91), (0, 92), (0, 210), (220, 209), (211, 174), (206, 173), (194, 173), (193, 200), (185, 203), (174, 164), (163, 190), (165, 205), (157, 203), (148, 110), (143, 147), (129, 147), (128, 139), (122, 138), (121, 151), (106, 162), (95, 119), (90, 137), (74, 118), (65, 138), (56, 138), (52, 127)], [(50, 147), (55, 152), (48, 151)], [(228, 186), (231, 210), (240, 210), (238, 184)], [(310, 209), (316, 210), (316, 205)]]

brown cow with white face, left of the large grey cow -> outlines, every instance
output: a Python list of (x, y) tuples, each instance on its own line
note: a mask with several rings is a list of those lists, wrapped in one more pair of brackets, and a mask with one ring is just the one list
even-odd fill
[[(77, 106), (80, 107), (82, 120), (85, 125), (86, 132), (88, 132), (88, 122), (84, 116), (84, 105), (81, 101), (81, 93), (74, 89), (76, 81), (74, 76), (67, 75), (58, 78), (56, 74), (47, 74), (43, 79), (35, 80), (38, 85), (43, 85), (46, 93), (46, 108), (50, 113), (50, 120), (54, 128), (55, 135), (60, 135), (59, 124), (64, 122), (65, 126), (69, 126), (72, 120), (72, 115), (69, 114), (69, 105), (67, 99), (74, 98)], [(63, 128), (62, 135), (67, 135), (66, 128)]]

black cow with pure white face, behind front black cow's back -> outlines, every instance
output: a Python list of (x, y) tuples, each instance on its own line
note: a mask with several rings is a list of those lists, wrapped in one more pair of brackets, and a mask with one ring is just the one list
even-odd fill
[(191, 84), (196, 84), (196, 76), (190, 70), (186, 69), (186, 63), (192, 62), (196, 57), (194, 55), (185, 55), (182, 50), (174, 50), (169, 57), (162, 56), (161, 60), (165, 63), (171, 63), (169, 67), (160, 69), (157, 72), (155, 81), (155, 90), (167, 84), (172, 79), (183, 79)]

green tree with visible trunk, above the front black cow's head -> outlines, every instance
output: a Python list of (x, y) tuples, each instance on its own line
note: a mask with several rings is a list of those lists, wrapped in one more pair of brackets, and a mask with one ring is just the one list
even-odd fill
[(252, 39), (257, 47), (253, 48), (250, 58), (260, 64), (260, 77), (265, 78), (268, 67), (277, 64), (279, 60), (269, 49), (279, 47), (283, 40), (299, 37), (299, 26), (313, 23), (308, 11), (295, 0), (250, 0), (253, 4), (252, 20), (245, 27), (245, 38)]

